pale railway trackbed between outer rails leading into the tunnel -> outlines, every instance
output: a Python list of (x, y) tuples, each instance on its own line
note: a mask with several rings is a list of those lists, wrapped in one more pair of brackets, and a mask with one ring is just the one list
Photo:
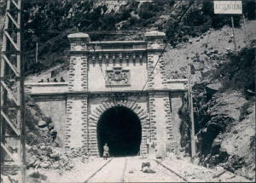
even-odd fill
[[(143, 159), (139, 157), (113, 157), (91, 174), (84, 183), (89, 182), (187, 182), (181, 174), (177, 174), (158, 160), (154, 160), (153, 174), (141, 171)], [(131, 171), (132, 170), (132, 171)], [(132, 173), (131, 173), (132, 172)]]

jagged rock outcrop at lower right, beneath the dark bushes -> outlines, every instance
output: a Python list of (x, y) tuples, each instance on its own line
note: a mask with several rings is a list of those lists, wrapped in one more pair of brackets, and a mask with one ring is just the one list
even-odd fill
[[(209, 85), (207, 89), (204, 97), (201, 96), (201, 105), (196, 106), (199, 109), (196, 117), (201, 129), (197, 135), (201, 164), (219, 164), (233, 173), (255, 179), (253, 102), (247, 101), (239, 92), (218, 93), (217, 89)], [(210, 100), (207, 100), (207, 93), (212, 95)], [(250, 105), (247, 105), (248, 102)], [(251, 114), (241, 120), (243, 110)]]

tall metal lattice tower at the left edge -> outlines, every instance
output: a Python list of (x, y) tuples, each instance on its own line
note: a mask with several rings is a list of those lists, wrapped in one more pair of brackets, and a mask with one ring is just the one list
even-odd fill
[(17, 171), (18, 182), (26, 183), (21, 9), (21, 0), (7, 1), (0, 65), (0, 166), (1, 178)]

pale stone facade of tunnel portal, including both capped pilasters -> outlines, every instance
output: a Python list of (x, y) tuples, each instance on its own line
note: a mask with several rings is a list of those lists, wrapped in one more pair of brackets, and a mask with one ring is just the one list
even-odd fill
[[(164, 37), (165, 33), (163, 32), (148, 32), (145, 34), (147, 49), (144, 49), (144, 54), (137, 54), (138, 57), (136, 54), (132, 57), (129, 56), (130, 54), (119, 54), (118, 66), (131, 70), (131, 84), (130, 86), (116, 85), (108, 89), (105, 86), (104, 77), (106, 73), (104, 72), (106, 72), (106, 69), (112, 69), (116, 65), (115, 60), (117, 60), (116, 55), (118, 53), (112, 53), (111, 59), (113, 63), (107, 61), (109, 68), (107, 65), (102, 66), (104, 64), (102, 62), (102, 53), (90, 53), (90, 48), (88, 47), (90, 46), (90, 37), (87, 34), (76, 33), (68, 36), (71, 41), (71, 58), (68, 82), (69, 94), (67, 94), (67, 121), (65, 125), (66, 148), (84, 147), (90, 152), (90, 155), (98, 156), (96, 124), (99, 118), (103, 112), (106, 112), (111, 107), (125, 106), (137, 114), (142, 124), (141, 155), (147, 153), (146, 141), (148, 134), (154, 142), (158, 155), (164, 156), (166, 151), (173, 152), (176, 149), (177, 143), (179, 143), (178, 140), (180, 140), (177, 132), (178, 108), (171, 106), (172, 99), (169, 93), (172, 89), (167, 84), (166, 66), (162, 56)], [(108, 55), (108, 53), (105, 54)], [(106, 55), (104, 58), (107, 59)], [(127, 61), (127, 58), (128, 60), (133, 60), (132, 65)], [(101, 61), (97, 63), (96, 59)], [(126, 61), (123, 63), (123, 60)], [(89, 73), (90, 78), (88, 78)], [(135, 77), (137, 73), (139, 73), (139, 77)], [(94, 80), (94, 78), (97, 79)], [(134, 84), (132, 79), (135, 79)], [(98, 80), (101, 80), (101, 82), (98, 82)], [(146, 88), (144, 88), (144, 80), (148, 81)], [(91, 85), (90, 88), (88, 83)], [(146, 97), (147, 99), (143, 101), (147, 104), (146, 106), (142, 106), (134, 99), (118, 100), (115, 102), (110, 98), (107, 99), (109, 92), (117, 91), (127, 91), (131, 97), (134, 97), (131, 95), (131, 92), (135, 91), (134, 94), (136, 94), (136, 91), (140, 91), (142, 88), (144, 92), (148, 90), (146, 91), (148, 98)], [(167, 88), (170, 90), (168, 91)], [(87, 92), (91, 92), (91, 94)], [(105, 97), (105, 99), (92, 104), (91, 99), (97, 95), (94, 94), (95, 92), (102, 93), (101, 97)], [(172, 111), (171, 108), (174, 110)]]

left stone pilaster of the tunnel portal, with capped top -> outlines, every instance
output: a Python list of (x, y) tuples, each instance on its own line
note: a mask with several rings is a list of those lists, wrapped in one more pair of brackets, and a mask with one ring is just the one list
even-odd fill
[[(68, 35), (71, 42), (68, 91), (88, 90), (87, 44), (90, 37), (84, 33)], [(65, 148), (88, 147), (88, 96), (68, 94), (65, 125)]]

